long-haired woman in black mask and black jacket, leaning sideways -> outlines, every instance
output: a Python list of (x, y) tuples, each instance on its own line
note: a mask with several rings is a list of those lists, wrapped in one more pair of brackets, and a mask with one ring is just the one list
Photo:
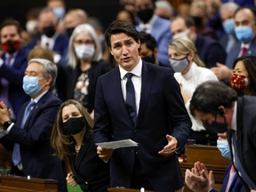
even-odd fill
[(71, 171), (66, 180), (83, 191), (107, 191), (109, 164), (97, 155), (92, 141), (93, 121), (86, 109), (76, 100), (61, 104), (52, 129), (51, 145), (56, 156), (68, 156)]

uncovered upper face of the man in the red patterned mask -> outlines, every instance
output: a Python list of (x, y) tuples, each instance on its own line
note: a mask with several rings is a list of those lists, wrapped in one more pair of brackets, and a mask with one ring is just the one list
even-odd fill
[(20, 34), (15, 26), (5, 26), (1, 30), (1, 44), (7, 41), (20, 41)]

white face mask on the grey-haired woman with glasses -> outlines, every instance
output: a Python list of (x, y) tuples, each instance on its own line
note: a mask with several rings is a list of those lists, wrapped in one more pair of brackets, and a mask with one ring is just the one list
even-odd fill
[(76, 56), (79, 59), (87, 60), (92, 58), (95, 53), (95, 48), (93, 44), (83, 44), (75, 47)]

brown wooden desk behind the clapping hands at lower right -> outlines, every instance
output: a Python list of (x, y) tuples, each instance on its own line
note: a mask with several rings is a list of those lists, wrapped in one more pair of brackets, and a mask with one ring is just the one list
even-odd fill
[[(215, 146), (188, 145), (187, 162), (180, 163), (183, 178), (185, 178), (186, 169), (190, 170), (197, 161), (204, 163), (208, 171), (212, 170), (215, 180), (214, 188), (220, 190), (225, 171), (231, 161), (221, 156), (219, 149)], [(184, 192), (186, 191), (190, 191), (187, 186)]]

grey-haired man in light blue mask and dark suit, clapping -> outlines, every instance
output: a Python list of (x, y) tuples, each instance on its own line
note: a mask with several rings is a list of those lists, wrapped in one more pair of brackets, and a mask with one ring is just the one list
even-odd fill
[(67, 191), (64, 164), (53, 156), (50, 134), (61, 101), (52, 95), (57, 67), (50, 60), (28, 61), (23, 89), (31, 97), (20, 108), (17, 122), (0, 102), (0, 127), (5, 136), (0, 142), (12, 151), (13, 173), (23, 176), (59, 180), (60, 191)]

